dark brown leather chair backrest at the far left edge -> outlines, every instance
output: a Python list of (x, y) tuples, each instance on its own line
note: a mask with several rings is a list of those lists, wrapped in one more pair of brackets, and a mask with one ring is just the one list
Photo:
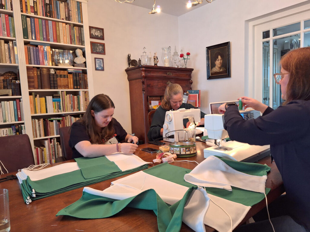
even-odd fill
[[(34, 165), (33, 153), (29, 136), (10, 135), (0, 137), (0, 160), (8, 172), (16, 172), (19, 169)], [(4, 173), (6, 170), (0, 163)]]

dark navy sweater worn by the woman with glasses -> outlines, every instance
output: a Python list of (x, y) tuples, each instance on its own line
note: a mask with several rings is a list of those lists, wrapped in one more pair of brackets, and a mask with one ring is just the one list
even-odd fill
[(270, 144), (281, 173), (290, 216), (310, 230), (310, 101), (291, 101), (277, 110), (270, 107), (263, 116), (244, 120), (237, 106), (225, 112), (224, 128), (232, 140)]

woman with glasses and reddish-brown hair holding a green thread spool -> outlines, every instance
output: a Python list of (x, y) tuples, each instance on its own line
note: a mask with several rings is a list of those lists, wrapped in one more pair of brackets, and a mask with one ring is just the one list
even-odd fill
[[(286, 191), (269, 207), (275, 231), (310, 231), (310, 47), (291, 50), (280, 64), (281, 73), (275, 73), (274, 78), (286, 100), (282, 106), (273, 110), (255, 99), (241, 97), (245, 108), (252, 107), (263, 114), (253, 120), (244, 120), (233, 104), (225, 103), (219, 110), (225, 113), (224, 128), (230, 139), (270, 144)], [(272, 231), (268, 220), (264, 221), (267, 215), (267, 211), (265, 218), (257, 215), (253, 218), (258, 222), (235, 231)]]

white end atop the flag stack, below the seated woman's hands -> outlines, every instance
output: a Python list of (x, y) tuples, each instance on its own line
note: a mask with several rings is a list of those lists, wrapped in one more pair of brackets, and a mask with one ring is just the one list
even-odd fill
[(107, 157), (109, 161), (113, 161), (122, 171), (137, 168), (144, 164), (151, 164), (150, 162), (145, 162), (140, 157), (134, 154), (113, 153), (105, 157)]

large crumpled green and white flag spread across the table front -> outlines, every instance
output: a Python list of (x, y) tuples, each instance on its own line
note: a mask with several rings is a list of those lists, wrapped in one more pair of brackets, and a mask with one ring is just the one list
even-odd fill
[[(219, 165), (218, 170), (216, 165)], [(159, 231), (179, 231), (183, 221), (195, 231), (205, 231), (206, 224), (224, 232), (230, 231), (231, 227), (234, 229), (251, 206), (264, 199), (263, 193), (255, 191), (265, 190), (266, 175), (270, 170), (266, 165), (210, 157), (195, 169), (163, 163), (113, 181), (103, 191), (85, 187), (81, 199), (60, 210), (56, 216), (104, 218), (128, 206), (153, 210)], [(205, 169), (213, 170), (206, 174)], [(251, 185), (246, 186), (247, 190), (240, 188), (238, 181), (229, 177), (234, 172), (234, 178), (238, 177), (239, 181), (243, 181), (243, 177), (250, 178), (251, 182), (256, 180), (254, 191)], [(210, 178), (212, 175), (219, 178)], [(203, 187), (186, 182), (188, 178)], [(268, 191), (266, 189), (266, 193)], [(162, 202), (168, 206), (162, 207)]]

